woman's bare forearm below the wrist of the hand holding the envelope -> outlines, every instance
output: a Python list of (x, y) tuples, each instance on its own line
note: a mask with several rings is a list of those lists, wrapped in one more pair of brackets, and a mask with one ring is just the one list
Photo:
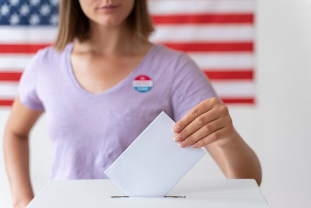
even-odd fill
[(228, 178), (252, 178), (261, 183), (261, 166), (256, 154), (235, 131), (234, 139), (220, 146)]

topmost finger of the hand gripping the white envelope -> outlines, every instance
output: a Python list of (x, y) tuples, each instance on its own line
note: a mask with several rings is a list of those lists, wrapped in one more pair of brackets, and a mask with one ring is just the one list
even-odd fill
[(191, 123), (195, 118), (202, 115), (203, 113), (212, 109), (213, 105), (219, 102), (217, 98), (207, 99), (202, 101), (194, 108), (192, 108), (188, 113), (186, 113), (174, 126), (172, 131), (178, 133), (183, 128), (185, 128), (189, 123)]

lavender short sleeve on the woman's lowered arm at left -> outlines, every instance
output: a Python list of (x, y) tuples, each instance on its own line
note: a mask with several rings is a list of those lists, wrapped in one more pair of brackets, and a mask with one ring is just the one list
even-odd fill
[(40, 51), (38, 51), (24, 69), (17, 89), (20, 102), (34, 110), (44, 109), (43, 104), (37, 95), (37, 80), (41, 65), (40, 62)]

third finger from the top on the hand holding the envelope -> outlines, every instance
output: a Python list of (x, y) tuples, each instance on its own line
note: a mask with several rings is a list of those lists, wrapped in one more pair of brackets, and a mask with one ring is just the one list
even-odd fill
[(215, 131), (224, 128), (225, 126), (226, 125), (222, 122), (222, 119), (220, 118), (213, 120), (212, 122), (208, 122), (207, 124), (202, 126), (199, 130), (195, 131), (194, 133), (186, 137), (184, 140), (182, 140), (179, 143), (179, 146), (187, 147), (193, 145), (202, 140), (203, 138), (209, 136), (210, 134), (213, 134)]

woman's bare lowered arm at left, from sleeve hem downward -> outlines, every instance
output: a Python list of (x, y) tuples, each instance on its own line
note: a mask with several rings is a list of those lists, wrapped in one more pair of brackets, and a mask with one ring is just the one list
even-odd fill
[(25, 107), (17, 97), (5, 126), (3, 152), (14, 208), (25, 208), (34, 197), (29, 175), (28, 137), (43, 112)]

